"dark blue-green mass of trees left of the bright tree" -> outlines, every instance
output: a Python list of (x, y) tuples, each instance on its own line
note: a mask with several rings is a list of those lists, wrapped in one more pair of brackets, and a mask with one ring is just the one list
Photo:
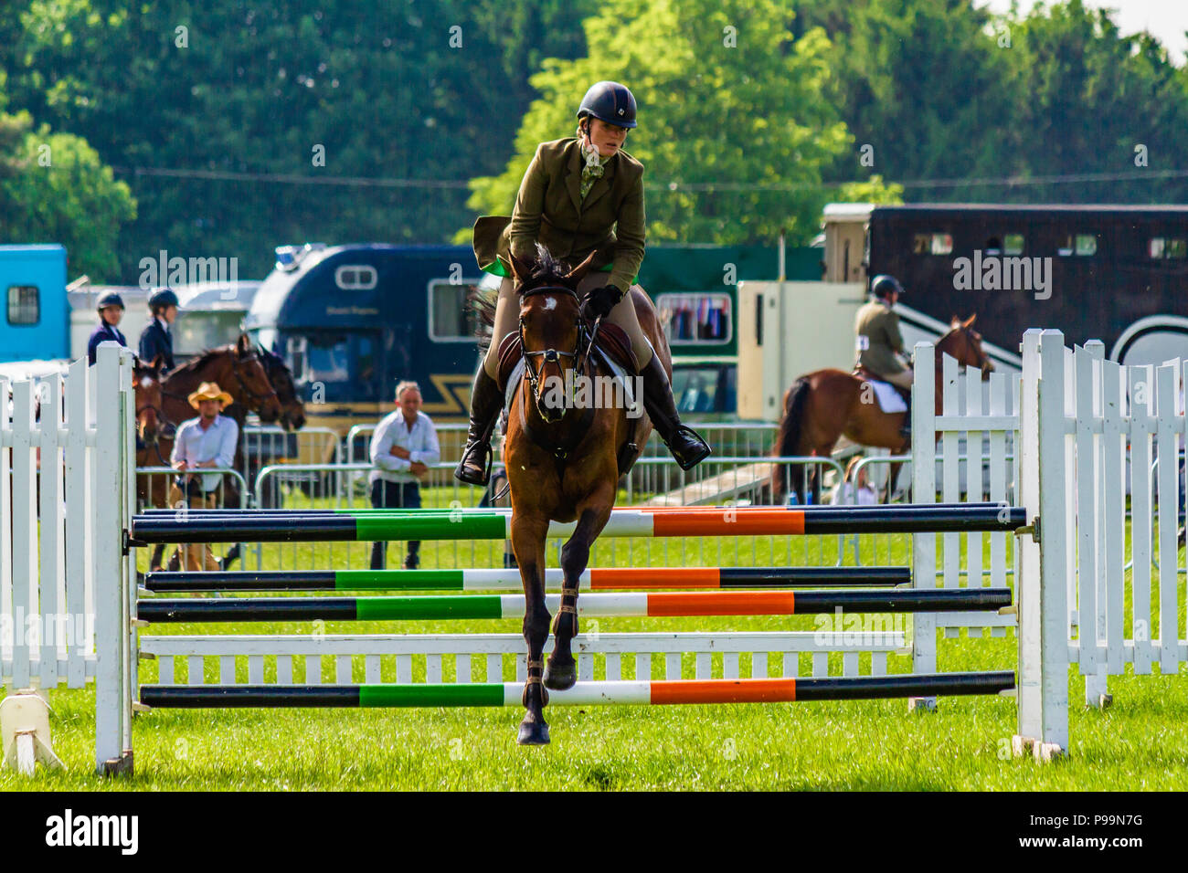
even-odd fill
[(282, 242), (446, 240), (469, 214), (465, 179), (507, 158), (526, 70), (584, 50), (563, 23), (593, 0), (18, 5), (19, 45), (0, 46), (14, 106), (86, 137), (128, 181), (131, 280), (158, 248), (263, 276)]

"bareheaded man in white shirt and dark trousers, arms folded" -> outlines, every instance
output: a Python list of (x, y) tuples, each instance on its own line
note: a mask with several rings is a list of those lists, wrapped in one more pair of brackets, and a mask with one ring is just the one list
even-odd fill
[[(403, 381), (396, 386), (396, 411), (375, 426), (371, 442), (371, 499), (377, 510), (419, 510), (421, 482), (441, 461), (437, 430), (429, 416), (421, 411), (421, 388), (416, 382)], [(409, 540), (404, 569), (415, 570), (421, 564), (421, 542)], [(386, 564), (387, 543), (372, 543), (373, 570)]]

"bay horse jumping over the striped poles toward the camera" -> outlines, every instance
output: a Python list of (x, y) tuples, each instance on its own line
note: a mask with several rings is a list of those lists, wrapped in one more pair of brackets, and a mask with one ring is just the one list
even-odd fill
[[(590, 328), (581, 316), (577, 297), (579, 283), (589, 271), (593, 255), (567, 270), (543, 247), (538, 246), (537, 253), (535, 264), (511, 259), (519, 296), (524, 377), (507, 410), (503, 447), (512, 501), (512, 551), (525, 603), (527, 682), (522, 697), (526, 711), (517, 736), (520, 745), (549, 742), (543, 711), (549, 702), (546, 689), (561, 691), (577, 681), (570, 644), (577, 634), (579, 581), (589, 563), (590, 545), (611, 518), (619, 476), (638, 458), (652, 430), (643, 411), (638, 379), (633, 380), (630, 411), (623, 393), (619, 403), (599, 398), (577, 407), (581, 392), (563, 404), (556, 403), (557, 386), (570, 384), (567, 373), (575, 382), (584, 375), (593, 380), (586, 385), (594, 386), (606, 386), (612, 373), (590, 353)], [(631, 302), (645, 336), (671, 377), (671, 353), (651, 301), (632, 290)], [(634, 373), (627, 375), (630, 379)], [(633, 432), (628, 413), (636, 416)], [(577, 524), (561, 549), (561, 607), (551, 625), (552, 653), (543, 665), (551, 618), (544, 597), (544, 545), (550, 521)]]

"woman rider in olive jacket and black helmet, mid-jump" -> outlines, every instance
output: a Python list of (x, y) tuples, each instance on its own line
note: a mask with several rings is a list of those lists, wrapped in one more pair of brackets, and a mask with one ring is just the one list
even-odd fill
[[(672, 457), (688, 470), (709, 455), (709, 447), (681, 424), (668, 375), (639, 328), (628, 289), (644, 260), (644, 166), (623, 151), (636, 126), (636, 99), (618, 82), (599, 82), (577, 109), (577, 135), (542, 143), (516, 197), (511, 219), (484, 216), (474, 224), (474, 253), (484, 271), (503, 276), (491, 348), (470, 391), (470, 430), (454, 475), (486, 485), (491, 432), (504, 405), (495, 382), (499, 344), (516, 333), (516, 299), (508, 253), (535, 259), (539, 242), (574, 266), (595, 252), (593, 267), (579, 285), (582, 315), (599, 316), (623, 328), (639, 361), (644, 409)], [(607, 276), (609, 273), (609, 276)], [(642, 289), (640, 289), (642, 290)]]

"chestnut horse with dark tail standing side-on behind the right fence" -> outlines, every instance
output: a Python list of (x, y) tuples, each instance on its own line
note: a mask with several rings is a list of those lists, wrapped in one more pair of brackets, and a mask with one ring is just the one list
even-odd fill
[[(962, 367), (978, 367), (985, 381), (994, 369), (990, 356), (981, 348), (981, 334), (973, 329), (977, 315), (966, 321), (955, 317), (949, 331), (936, 341), (936, 415), (941, 412), (941, 362), (944, 355), (956, 359)], [(858, 373), (840, 369), (819, 369), (798, 378), (784, 394), (784, 415), (779, 420), (776, 437), (776, 457), (804, 457), (816, 455), (829, 457), (838, 441), (845, 436), (859, 445), (891, 449), (904, 454), (911, 448), (911, 437), (901, 429), (906, 412), (884, 412), (874, 398), (872, 386)], [(795, 492), (804, 504), (805, 467), (795, 472)], [(891, 464), (887, 476), (887, 496), (895, 485), (901, 464)], [(821, 469), (814, 470), (820, 491)], [(771, 469), (771, 495), (773, 504), (783, 504), (786, 498), (788, 479), (781, 464)]]

